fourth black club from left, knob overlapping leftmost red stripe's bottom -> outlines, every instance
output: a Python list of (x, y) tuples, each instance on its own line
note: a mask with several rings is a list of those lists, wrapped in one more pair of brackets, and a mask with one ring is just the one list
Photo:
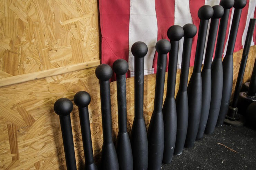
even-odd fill
[(126, 113), (126, 72), (128, 63), (118, 59), (113, 63), (113, 70), (117, 74), (117, 108), (118, 108), (118, 135), (116, 143), (117, 158), (120, 170), (132, 170), (133, 160), (129, 135), (127, 133)]

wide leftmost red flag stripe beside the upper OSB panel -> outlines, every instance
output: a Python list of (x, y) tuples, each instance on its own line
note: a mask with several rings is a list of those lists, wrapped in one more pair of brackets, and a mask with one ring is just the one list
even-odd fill
[[(128, 62), (130, 1), (99, 0), (99, 11), (101, 63), (112, 67), (117, 59), (125, 59)], [(113, 74), (111, 80), (115, 79), (116, 75)]]

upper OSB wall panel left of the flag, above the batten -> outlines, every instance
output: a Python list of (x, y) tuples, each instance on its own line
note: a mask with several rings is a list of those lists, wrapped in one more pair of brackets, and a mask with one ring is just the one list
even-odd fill
[(99, 60), (97, 7), (96, 0), (1, 0), (0, 70), (16, 76)]

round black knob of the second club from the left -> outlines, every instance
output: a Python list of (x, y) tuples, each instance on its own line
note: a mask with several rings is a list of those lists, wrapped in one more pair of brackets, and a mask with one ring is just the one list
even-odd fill
[(74, 96), (74, 103), (77, 107), (85, 108), (91, 102), (91, 96), (86, 91), (79, 91)]

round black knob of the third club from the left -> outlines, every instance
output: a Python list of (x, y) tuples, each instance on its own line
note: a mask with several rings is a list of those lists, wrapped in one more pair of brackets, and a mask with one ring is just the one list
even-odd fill
[(111, 78), (113, 71), (108, 64), (100, 64), (95, 70), (96, 77), (101, 81), (107, 81)]

